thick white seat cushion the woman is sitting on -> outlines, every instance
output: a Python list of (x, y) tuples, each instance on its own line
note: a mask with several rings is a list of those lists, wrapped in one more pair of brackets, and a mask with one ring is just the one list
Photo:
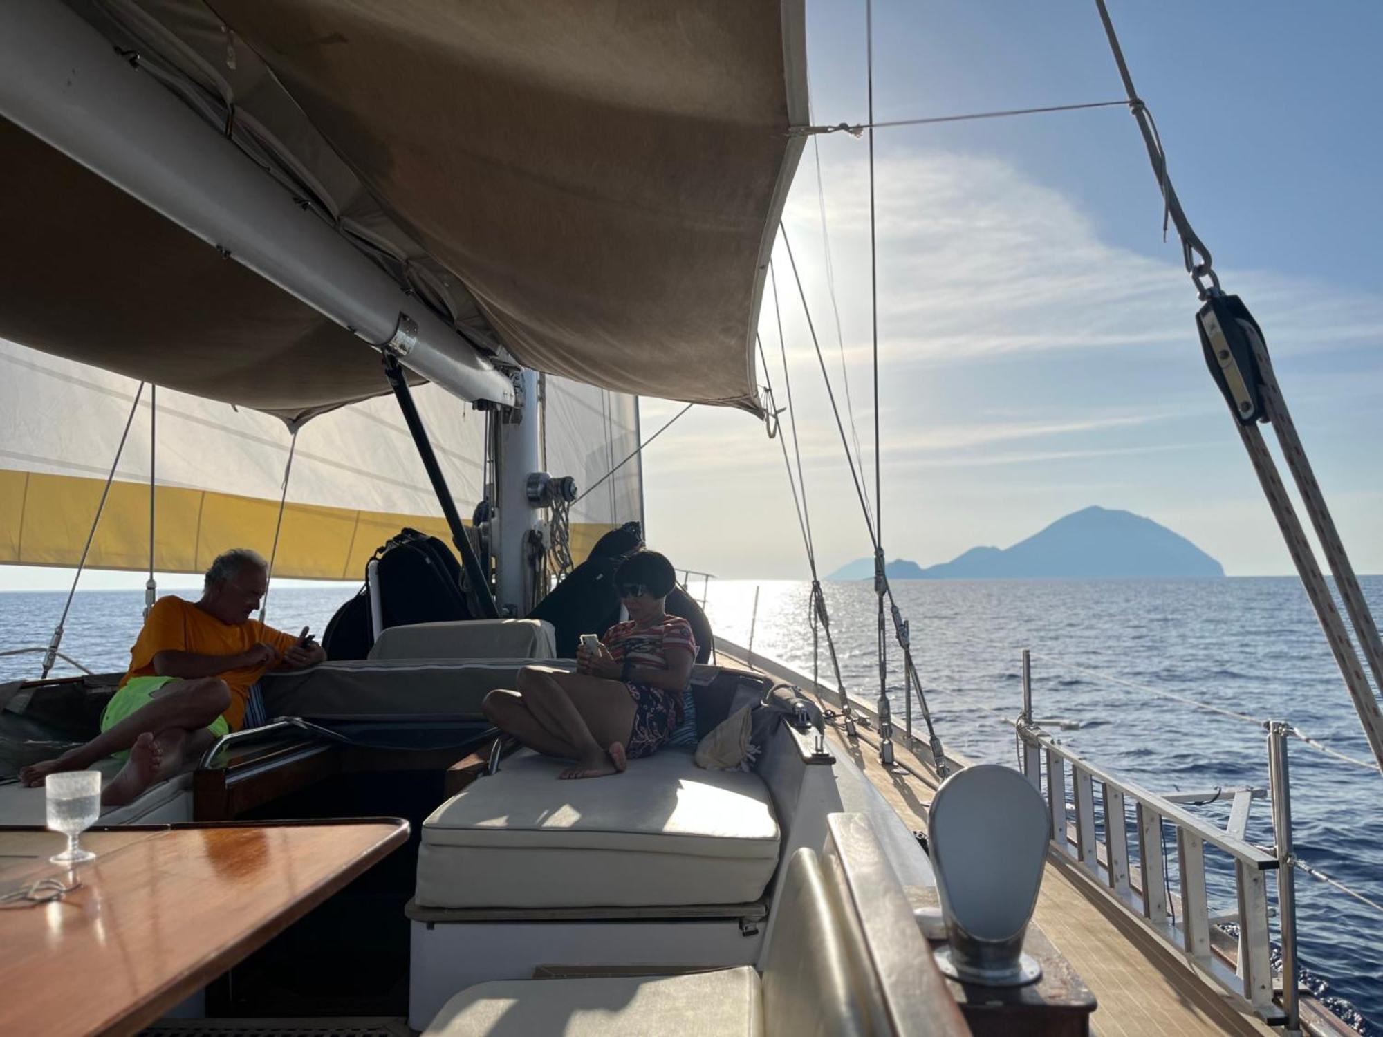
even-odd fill
[(559, 781), (524, 751), (423, 821), (419, 907), (740, 904), (777, 867), (757, 774), (703, 770), (679, 749), (624, 774)]

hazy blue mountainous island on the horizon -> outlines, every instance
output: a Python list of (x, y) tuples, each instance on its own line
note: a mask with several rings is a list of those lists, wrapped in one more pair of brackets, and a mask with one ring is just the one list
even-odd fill
[[(1224, 575), (1220, 563), (1185, 536), (1141, 514), (1098, 505), (1062, 516), (1011, 548), (971, 548), (950, 561), (927, 568), (899, 559), (888, 563), (885, 571), (891, 579), (1159, 579)], [(873, 575), (874, 560), (859, 559), (827, 579), (871, 579)]]

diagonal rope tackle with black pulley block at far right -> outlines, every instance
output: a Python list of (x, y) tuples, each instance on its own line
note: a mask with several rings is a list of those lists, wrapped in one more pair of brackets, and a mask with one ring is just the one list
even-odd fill
[(1321, 629), (1325, 632), (1330, 654), (1335, 655), (1335, 662), (1340, 668), (1340, 676), (1344, 679), (1344, 686), (1354, 702), (1354, 709), (1364, 725), (1364, 734), (1369, 741), (1369, 748), (1373, 751), (1373, 759), (1379, 765), (1379, 769), (1383, 770), (1383, 712), (1379, 709), (1377, 697), (1373, 689), (1369, 687), (1364, 666), (1359, 664), (1359, 653), (1350, 640), (1344, 621), (1335, 607), (1330, 588), (1325, 582), (1315, 550), (1306, 538), (1301, 520), (1297, 517), (1292, 498), (1288, 495), (1282, 477), (1278, 473), (1277, 462), (1268, 451), (1268, 445), (1259, 429), (1260, 423), (1271, 424), (1277, 433), (1278, 445), (1286, 458), (1307, 516), (1311, 518), (1311, 525), (1315, 528), (1317, 538), (1335, 575), (1340, 597), (1344, 600), (1344, 607), (1350, 614), (1359, 650), (1362, 650), (1364, 658), (1373, 672), (1375, 683), (1383, 689), (1383, 642), (1379, 639), (1377, 625), (1373, 622), (1368, 601), (1365, 601), (1364, 592), (1359, 589), (1359, 581), (1354, 575), (1354, 567), (1350, 564), (1339, 531), (1335, 528), (1335, 520), (1330, 517), (1330, 510), (1325, 503), (1325, 495), (1321, 492), (1321, 485), (1311, 470), (1306, 447), (1301, 445), (1301, 437), (1292, 422), (1286, 397), (1282, 394), (1277, 375), (1272, 371), (1272, 359), (1268, 355), (1263, 329), (1253, 319), (1253, 314), (1249, 312), (1243, 300), (1238, 296), (1225, 295), (1221, 290), (1220, 278), (1210, 265), (1210, 250), (1206, 249), (1205, 243), (1192, 230), (1191, 221), (1182, 212), (1181, 203), (1177, 200), (1177, 194), (1167, 177), (1167, 162), (1162, 151), (1162, 142), (1158, 138), (1152, 116), (1142, 101), (1138, 101), (1133, 76), (1124, 61), (1123, 50), (1119, 46), (1119, 37), (1115, 33), (1105, 0), (1095, 0), (1095, 7), (1105, 26), (1109, 50), (1113, 54), (1115, 64), (1119, 66), (1119, 75), (1123, 79), (1129, 100), (1131, 102), (1137, 101), (1137, 104), (1130, 105), (1130, 109), (1138, 120), (1138, 127), (1148, 145), (1148, 158), (1152, 162), (1152, 171), (1158, 177), (1166, 206), (1164, 220), (1170, 220), (1177, 228), (1177, 234), (1181, 238), (1182, 254), (1187, 261), (1187, 271), (1191, 274), (1196, 290), (1205, 303), (1196, 314), (1196, 332), (1200, 337), (1200, 348), (1205, 353), (1206, 366), (1224, 394), (1229, 413), (1234, 415), (1239, 438), (1249, 454), (1249, 462), (1253, 465), (1254, 474), (1257, 474), (1259, 483), (1263, 487), (1263, 494), (1268, 501), (1268, 507), (1272, 510), (1272, 517), (1282, 531), (1282, 539), (1286, 542), (1288, 553), (1292, 556), (1292, 564), (1296, 566), (1297, 575), (1306, 588), (1307, 596), (1311, 599), (1311, 607), (1315, 610)]

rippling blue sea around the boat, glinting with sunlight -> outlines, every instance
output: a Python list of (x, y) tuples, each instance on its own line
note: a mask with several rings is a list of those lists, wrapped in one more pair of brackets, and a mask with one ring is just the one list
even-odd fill
[[(682, 560), (678, 560), (682, 561)], [(686, 564), (696, 564), (687, 559)], [(1383, 578), (1361, 578), (1383, 614)], [(118, 671), (140, 628), (141, 581), (129, 592), (80, 592), (64, 651), (93, 669)], [(878, 695), (875, 603), (869, 582), (826, 583), (842, 676), (852, 694)], [(758, 614), (754, 597), (758, 589)], [(810, 673), (805, 582), (712, 581), (707, 611), (723, 636)], [(1340, 752), (1368, 759), (1339, 672), (1300, 583), (1292, 578), (1199, 581), (899, 581), (913, 654), (942, 742), (972, 760), (1014, 763), (1003, 718), (1021, 702), (1019, 651), (1032, 648), (1033, 711), (1094, 765), (1156, 792), (1267, 787), (1264, 733), (1156, 698), (1171, 691), (1253, 718), (1289, 720)], [(277, 588), (268, 622), (321, 633), (354, 588)], [(700, 596), (700, 586), (693, 585)], [(195, 597), (192, 590), (174, 592)], [(62, 593), (0, 593), (0, 650), (44, 646)], [(823, 679), (830, 661), (820, 655)], [(1050, 658), (1044, 658), (1050, 657)], [(36, 676), (41, 655), (0, 658), (0, 680)], [(1093, 676), (1098, 671), (1126, 683)], [(59, 666), (59, 673), (71, 673)], [(902, 671), (889, 624), (889, 697), (904, 723)], [(921, 722), (914, 704), (914, 730)], [(1289, 742), (1293, 837), (1300, 857), (1365, 896), (1383, 900), (1383, 778)], [(1228, 803), (1191, 807), (1221, 827)], [(1271, 843), (1264, 801), (1249, 839)], [(1176, 868), (1176, 852), (1170, 852)], [(1207, 849), (1212, 910), (1234, 908), (1227, 860)], [(1304, 982), (1361, 1031), (1383, 1023), (1383, 917), (1297, 874), (1299, 954)]]

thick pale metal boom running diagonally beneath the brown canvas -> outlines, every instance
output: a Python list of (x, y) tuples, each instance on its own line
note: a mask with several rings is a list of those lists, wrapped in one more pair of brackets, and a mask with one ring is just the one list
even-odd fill
[(0, 115), (380, 348), (400, 314), (407, 365), (466, 400), (513, 384), (319, 216), (66, 4), (0, 4)]

